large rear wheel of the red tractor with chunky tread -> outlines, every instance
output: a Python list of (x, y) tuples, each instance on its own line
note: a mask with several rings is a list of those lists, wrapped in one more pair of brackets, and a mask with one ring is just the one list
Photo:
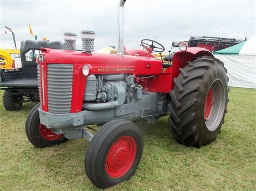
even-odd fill
[(210, 56), (186, 62), (170, 92), (171, 132), (181, 144), (201, 147), (217, 138), (228, 102), (224, 63)]

